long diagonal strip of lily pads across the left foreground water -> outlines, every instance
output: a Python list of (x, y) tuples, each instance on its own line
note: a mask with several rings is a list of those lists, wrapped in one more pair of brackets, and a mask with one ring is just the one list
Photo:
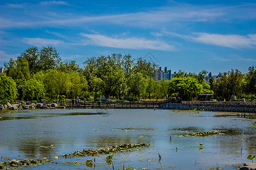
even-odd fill
[[(104, 154), (115, 154), (118, 152), (132, 152), (132, 151), (140, 151), (144, 147), (153, 147), (153, 145), (146, 145), (144, 143), (139, 144), (124, 144), (111, 146), (106, 148), (98, 148), (97, 150), (83, 150), (83, 151), (75, 151), (71, 154), (63, 154), (60, 156), (53, 156), (53, 158), (36, 158), (36, 159), (23, 159), (23, 160), (7, 160), (5, 162), (0, 162), (0, 169), (3, 168), (24, 168), (24, 167), (34, 167), (37, 165), (43, 164), (51, 164), (56, 163), (56, 160), (59, 158), (77, 158), (84, 156), (97, 156)], [(9, 159), (9, 158), (6, 158)]]

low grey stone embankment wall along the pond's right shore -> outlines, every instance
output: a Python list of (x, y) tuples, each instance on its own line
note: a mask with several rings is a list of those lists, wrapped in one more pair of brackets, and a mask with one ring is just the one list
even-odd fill
[(256, 113), (256, 102), (182, 101), (181, 103), (166, 103), (163, 105), (163, 108), (181, 110), (197, 109), (204, 111)]

